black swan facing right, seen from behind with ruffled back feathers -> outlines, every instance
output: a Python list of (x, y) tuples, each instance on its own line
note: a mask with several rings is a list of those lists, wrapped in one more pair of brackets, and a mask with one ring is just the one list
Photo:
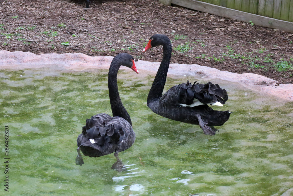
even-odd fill
[(120, 164), (119, 167), (122, 167), (118, 153), (130, 148), (134, 143), (135, 133), (131, 119), (118, 93), (117, 73), (121, 65), (138, 73), (134, 58), (130, 54), (120, 53), (113, 58), (108, 73), (109, 98), (113, 117), (101, 113), (86, 119), (86, 126), (82, 127), (82, 133), (77, 138), (76, 165), (84, 163), (81, 150), (85, 156), (89, 157), (100, 157), (115, 152), (117, 162), (112, 168), (115, 167), (115, 164)]

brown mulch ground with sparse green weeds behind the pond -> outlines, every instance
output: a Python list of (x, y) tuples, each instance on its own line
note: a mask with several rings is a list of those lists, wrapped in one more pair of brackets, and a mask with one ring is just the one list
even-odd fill
[(142, 53), (155, 33), (171, 39), (171, 63), (293, 83), (292, 33), (157, 0), (92, 0), (89, 9), (84, 1), (0, 0), (0, 50), (89, 56), (127, 52), (141, 60), (161, 61), (160, 47)]

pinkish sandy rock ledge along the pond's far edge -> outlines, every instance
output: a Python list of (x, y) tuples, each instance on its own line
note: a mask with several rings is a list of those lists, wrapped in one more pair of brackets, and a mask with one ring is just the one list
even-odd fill
[[(65, 69), (82, 71), (87, 68), (108, 69), (113, 57), (111, 56), (87, 56), (81, 53), (65, 54), (39, 54), (22, 51), (0, 51), (1, 69), (23, 69), (38, 68), (47, 65), (58, 65)], [(135, 63), (139, 71), (146, 70), (156, 73), (160, 62), (137, 61)], [(121, 67), (125, 68), (125, 67)], [(209, 68), (200, 65), (170, 64), (168, 74), (188, 75), (195, 77), (218, 78), (225, 81), (239, 83), (246, 88), (269, 93), (271, 95), (283, 98), (287, 101), (293, 101), (293, 84), (278, 84), (277, 81), (253, 73), (231, 73), (228, 71), (219, 71), (215, 68)], [(185, 82), (185, 80), (183, 81)]]

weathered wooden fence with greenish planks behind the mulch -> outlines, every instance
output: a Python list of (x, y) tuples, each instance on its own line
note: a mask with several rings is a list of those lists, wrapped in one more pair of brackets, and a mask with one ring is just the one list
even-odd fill
[(293, 0), (159, 0), (293, 33)]

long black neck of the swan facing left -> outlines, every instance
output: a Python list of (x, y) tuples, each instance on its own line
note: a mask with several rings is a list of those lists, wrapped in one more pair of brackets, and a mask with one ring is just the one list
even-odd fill
[(154, 79), (153, 85), (147, 97), (147, 104), (159, 100), (163, 96), (163, 90), (166, 83), (168, 68), (171, 60), (172, 45), (169, 39), (164, 39), (163, 43), (163, 59)]

